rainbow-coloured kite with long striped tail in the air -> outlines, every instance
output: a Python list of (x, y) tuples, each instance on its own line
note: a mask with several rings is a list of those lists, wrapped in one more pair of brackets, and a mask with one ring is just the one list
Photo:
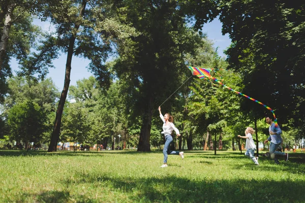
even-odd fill
[[(272, 112), (273, 117), (275, 118), (274, 122), (275, 122), (276, 126), (278, 126), (278, 120), (277, 120), (277, 118), (276, 118), (276, 114), (275, 114), (275, 112), (274, 112), (270, 107), (268, 107), (267, 105), (264, 105), (264, 104), (261, 103), (260, 101), (254, 99), (254, 98), (252, 98), (252, 97), (250, 97), (250, 96), (247, 96), (246, 94), (243, 94), (243, 93), (241, 93), (241, 92), (235, 91), (234, 89), (232, 89), (232, 88), (230, 88), (230, 87), (224, 85), (221, 81), (219, 81), (218, 79), (216, 79), (216, 78), (214, 78), (213, 76), (211, 76), (210, 72), (211, 72), (211, 71), (214, 71), (214, 69), (203, 69), (203, 68), (201, 68), (201, 67), (192, 67), (192, 66), (188, 66), (188, 68), (192, 71), (192, 75), (197, 76), (197, 77), (200, 78), (200, 79), (214, 80), (214, 81), (218, 82), (219, 84), (221, 84), (222, 86), (224, 86), (225, 88), (227, 88), (227, 89), (229, 89), (229, 90), (231, 90), (231, 91), (233, 91), (233, 92), (235, 92), (235, 93), (237, 93), (237, 94), (240, 94), (240, 95), (242, 95), (242, 96), (245, 96), (245, 97), (247, 97), (247, 98), (249, 98), (249, 99), (255, 101), (256, 103), (258, 103), (258, 104), (264, 106), (265, 108), (267, 108), (269, 111)], [(215, 71), (214, 71), (214, 72), (215, 72)]]

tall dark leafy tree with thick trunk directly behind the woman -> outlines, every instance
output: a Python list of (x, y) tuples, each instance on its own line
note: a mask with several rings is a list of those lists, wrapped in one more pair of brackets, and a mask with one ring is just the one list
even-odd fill
[(138, 115), (142, 115), (138, 151), (150, 151), (151, 118), (158, 108), (156, 104), (161, 104), (182, 84), (177, 79), (187, 71), (184, 56), (198, 46), (201, 36), (186, 25), (187, 1), (130, 1), (126, 4), (129, 8), (126, 21), (132, 23), (140, 35), (118, 43), (120, 57), (114, 69), (120, 79), (126, 75), (131, 77), (133, 86), (141, 92), (136, 101)]

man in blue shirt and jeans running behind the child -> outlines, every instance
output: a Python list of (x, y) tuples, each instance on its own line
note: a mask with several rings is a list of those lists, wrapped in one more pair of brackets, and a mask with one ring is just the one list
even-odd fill
[(279, 156), (284, 156), (285, 161), (288, 160), (288, 154), (284, 153), (284, 152), (279, 152), (277, 151), (278, 147), (281, 145), (282, 143), (282, 130), (280, 128), (280, 126), (276, 127), (276, 124), (273, 123), (272, 119), (269, 118), (268, 116), (266, 117), (266, 123), (268, 123), (269, 126), (269, 138), (267, 140), (264, 141), (264, 143), (268, 143), (268, 141), (270, 141), (270, 149), (269, 149), (269, 153), (270, 153), (270, 157), (275, 160), (276, 164), (280, 164), (279, 160), (277, 159), (277, 155)]

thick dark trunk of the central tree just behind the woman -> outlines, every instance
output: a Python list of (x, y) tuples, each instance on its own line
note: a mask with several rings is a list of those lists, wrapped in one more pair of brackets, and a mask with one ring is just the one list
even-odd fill
[(147, 105), (145, 106), (143, 122), (140, 131), (140, 139), (138, 150), (140, 152), (150, 152), (150, 129), (151, 129), (151, 118), (153, 117), (153, 101), (152, 95), (147, 96)]

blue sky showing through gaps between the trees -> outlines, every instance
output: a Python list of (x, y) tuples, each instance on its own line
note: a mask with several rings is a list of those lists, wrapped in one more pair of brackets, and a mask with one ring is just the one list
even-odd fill
[[(34, 23), (41, 26), (43, 30), (52, 31), (54, 27), (48, 22), (41, 22), (38, 19), (34, 20)], [(223, 51), (230, 46), (231, 40), (228, 35), (223, 36), (221, 33), (222, 24), (219, 19), (215, 19), (212, 22), (205, 24), (202, 31), (207, 33), (208, 39), (214, 42), (215, 47), (219, 47), (218, 53), (222, 57), (226, 57)], [(63, 54), (58, 59), (53, 61), (55, 69), (50, 69), (47, 78), (52, 78), (58, 91), (62, 91), (64, 88), (65, 70), (66, 70), (67, 55)], [(76, 81), (83, 78), (88, 78), (92, 74), (86, 69), (89, 61), (84, 58), (72, 58), (72, 69), (70, 77), (70, 85), (76, 85)], [(18, 64), (16, 60), (11, 61), (12, 70), (18, 70)]]

